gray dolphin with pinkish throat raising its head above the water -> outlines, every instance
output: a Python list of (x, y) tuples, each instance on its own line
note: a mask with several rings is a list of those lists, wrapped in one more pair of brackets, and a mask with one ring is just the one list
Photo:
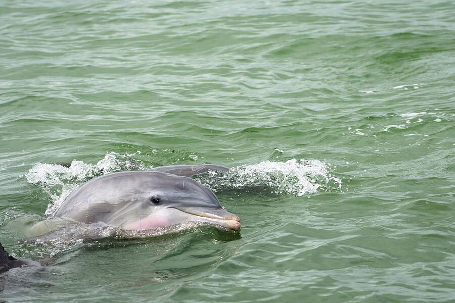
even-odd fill
[(186, 177), (227, 169), (211, 165), (167, 166), (100, 176), (73, 191), (53, 217), (86, 224), (103, 222), (130, 231), (187, 222), (239, 230), (239, 217), (226, 211), (210, 189)]

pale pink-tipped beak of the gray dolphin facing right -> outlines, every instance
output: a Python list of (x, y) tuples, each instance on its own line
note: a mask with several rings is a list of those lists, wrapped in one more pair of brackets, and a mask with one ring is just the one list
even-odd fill
[(198, 221), (220, 225), (229, 230), (240, 229), (240, 218), (223, 209), (204, 207), (173, 207), (181, 212), (197, 216)]

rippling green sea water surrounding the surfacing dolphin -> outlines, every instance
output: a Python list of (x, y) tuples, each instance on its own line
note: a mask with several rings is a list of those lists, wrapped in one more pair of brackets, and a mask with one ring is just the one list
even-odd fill
[[(455, 301), (454, 20), (436, 0), (0, 0), (0, 241), (51, 264), (0, 298)], [(240, 234), (19, 242), (84, 180), (177, 163), (236, 170), (205, 181)]]

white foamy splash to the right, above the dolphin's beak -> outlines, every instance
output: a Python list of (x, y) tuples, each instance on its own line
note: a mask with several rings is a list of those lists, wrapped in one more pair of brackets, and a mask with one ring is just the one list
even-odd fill
[(318, 190), (341, 189), (341, 180), (328, 172), (330, 164), (319, 160), (291, 159), (287, 162), (264, 161), (210, 172), (195, 179), (213, 191), (260, 187), (277, 194), (303, 196)]

